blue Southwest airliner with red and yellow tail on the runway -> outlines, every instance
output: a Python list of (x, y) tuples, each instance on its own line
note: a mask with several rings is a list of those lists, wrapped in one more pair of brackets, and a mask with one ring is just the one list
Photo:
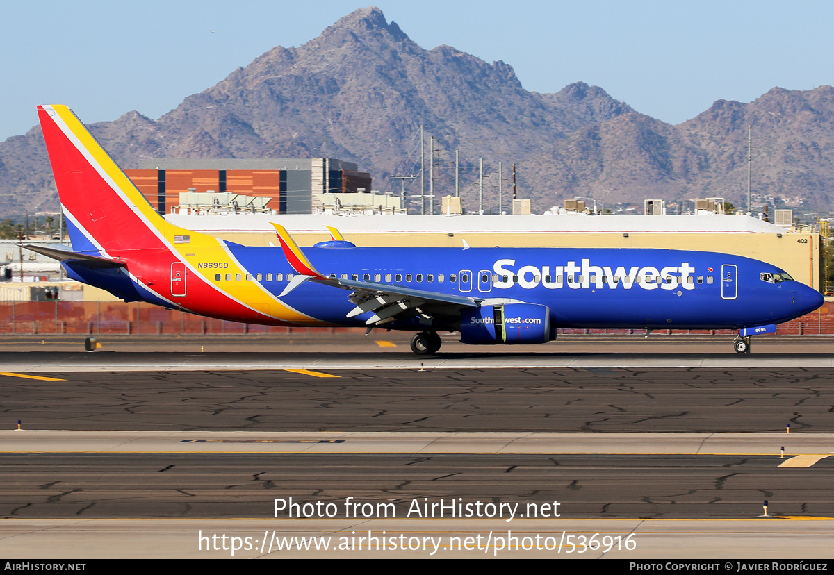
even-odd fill
[(662, 249), (299, 248), (225, 242), (168, 223), (66, 106), (39, 106), (73, 251), (30, 247), (127, 302), (235, 322), (438, 332), (472, 344), (545, 343), (558, 328), (738, 329), (736, 352), (822, 296), (769, 263)]

